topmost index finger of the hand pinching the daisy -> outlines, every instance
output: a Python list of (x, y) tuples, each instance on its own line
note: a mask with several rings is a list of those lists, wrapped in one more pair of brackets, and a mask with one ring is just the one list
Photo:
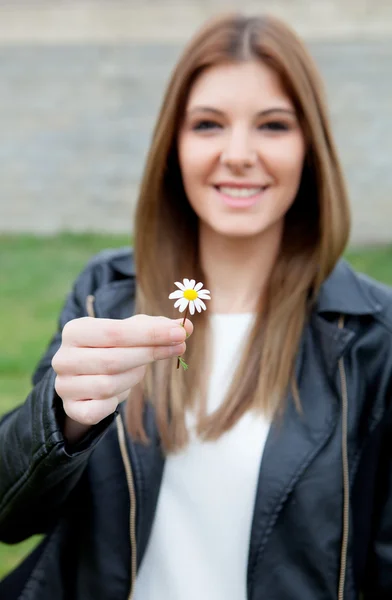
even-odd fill
[(166, 317), (135, 315), (123, 320), (82, 317), (65, 325), (62, 341), (68, 346), (89, 348), (163, 346), (183, 342), (192, 331), (190, 321), (182, 327), (179, 320)]

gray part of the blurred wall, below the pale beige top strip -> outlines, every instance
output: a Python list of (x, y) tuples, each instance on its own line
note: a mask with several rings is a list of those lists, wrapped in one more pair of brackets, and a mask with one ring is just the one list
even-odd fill
[[(327, 84), (354, 244), (392, 241), (392, 37), (373, 37), (309, 42)], [(151, 129), (182, 45), (0, 44), (0, 231), (132, 228)]]

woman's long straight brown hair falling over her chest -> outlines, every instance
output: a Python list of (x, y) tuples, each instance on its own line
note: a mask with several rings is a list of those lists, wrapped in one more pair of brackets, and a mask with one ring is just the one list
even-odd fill
[[(305, 46), (276, 18), (222, 16), (208, 22), (186, 47), (155, 127), (135, 221), (137, 312), (178, 318), (168, 300), (173, 282), (184, 277), (204, 280), (198, 219), (186, 198), (178, 163), (178, 131), (190, 89), (204, 69), (255, 59), (280, 76), (296, 108), (307, 151), (269, 281), (267, 309), (259, 312), (224, 403), (211, 415), (199, 411), (199, 434), (205, 439), (216, 439), (251, 408), (270, 417), (283, 409), (310, 301), (333, 270), (349, 236), (349, 205), (323, 85)], [(195, 330), (187, 349), (190, 369), (176, 370), (175, 360), (155, 363), (127, 404), (127, 426), (139, 440), (146, 439), (144, 403), (148, 399), (153, 404), (167, 452), (186, 444), (186, 411), (196, 402), (203, 404), (208, 315), (196, 314), (193, 322)], [(299, 403), (298, 394), (294, 396)]]

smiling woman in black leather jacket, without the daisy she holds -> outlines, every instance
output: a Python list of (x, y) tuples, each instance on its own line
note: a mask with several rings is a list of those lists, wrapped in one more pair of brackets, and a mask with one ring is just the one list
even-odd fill
[[(0, 538), (46, 534), (4, 597), (392, 597), (392, 293), (341, 261), (322, 86), (284, 24), (223, 17), (185, 49), (135, 230), (1, 423)], [(181, 327), (185, 277), (212, 299)]]

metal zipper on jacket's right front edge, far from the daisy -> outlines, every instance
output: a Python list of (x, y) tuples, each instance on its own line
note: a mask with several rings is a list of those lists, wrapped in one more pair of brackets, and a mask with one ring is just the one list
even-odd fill
[[(341, 315), (339, 319), (339, 329), (344, 327), (344, 317)], [(347, 549), (350, 527), (350, 472), (348, 464), (348, 444), (347, 444), (347, 429), (348, 429), (348, 393), (347, 393), (347, 378), (344, 368), (343, 357), (339, 360), (340, 385), (342, 393), (342, 467), (343, 467), (343, 535), (340, 553), (340, 575), (338, 600), (344, 600), (344, 587), (346, 582), (347, 571)]]

